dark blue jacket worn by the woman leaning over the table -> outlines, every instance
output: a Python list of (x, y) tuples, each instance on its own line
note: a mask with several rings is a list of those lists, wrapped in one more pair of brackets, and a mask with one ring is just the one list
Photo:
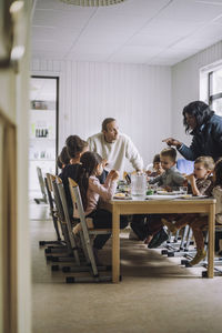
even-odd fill
[(199, 157), (212, 157), (214, 161), (222, 158), (222, 117), (213, 114), (199, 129), (191, 132), (193, 140), (190, 148), (182, 144), (179, 152), (186, 159), (194, 161)]

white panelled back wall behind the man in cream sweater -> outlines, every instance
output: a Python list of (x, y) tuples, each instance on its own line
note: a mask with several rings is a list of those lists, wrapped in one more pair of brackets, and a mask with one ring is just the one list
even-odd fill
[(60, 149), (70, 134), (87, 139), (107, 117), (118, 119), (144, 162), (171, 133), (171, 69), (140, 64), (32, 61), (32, 74), (60, 77)]

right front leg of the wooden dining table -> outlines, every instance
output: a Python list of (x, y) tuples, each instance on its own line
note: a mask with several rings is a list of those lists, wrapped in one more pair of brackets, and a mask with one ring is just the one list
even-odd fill
[(214, 268), (214, 233), (215, 233), (215, 205), (210, 206), (209, 212), (209, 246), (208, 246), (208, 278), (213, 278)]

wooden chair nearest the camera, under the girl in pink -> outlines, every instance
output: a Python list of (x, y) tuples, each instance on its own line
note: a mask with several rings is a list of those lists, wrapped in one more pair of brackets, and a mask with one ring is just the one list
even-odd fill
[[(90, 229), (88, 226), (88, 222), (84, 215), (84, 210), (83, 210), (83, 205), (82, 205), (82, 199), (81, 199), (81, 194), (80, 194), (80, 190), (79, 190), (79, 185), (72, 180), (69, 179), (69, 185), (70, 185), (70, 193), (71, 193), (71, 198), (72, 198), (72, 203), (73, 203), (73, 210), (74, 213), (77, 214), (77, 216), (80, 220), (80, 235), (81, 235), (81, 240), (83, 242), (83, 249), (87, 252), (87, 258), (89, 258), (90, 261), (90, 265), (92, 269), (92, 274), (93, 276), (90, 278), (85, 278), (85, 282), (109, 282), (112, 281), (111, 276), (104, 276), (104, 275), (100, 275), (99, 273), (99, 268), (95, 262), (95, 258), (93, 254), (93, 250), (92, 250), (92, 244), (90, 241), (90, 236), (91, 235), (98, 235), (98, 234), (104, 234), (104, 233), (111, 233), (111, 229)], [(110, 266), (107, 266), (107, 269), (110, 269)], [(78, 278), (74, 276), (68, 276), (67, 278), (67, 282), (68, 283), (73, 283), (73, 282), (78, 282)]]

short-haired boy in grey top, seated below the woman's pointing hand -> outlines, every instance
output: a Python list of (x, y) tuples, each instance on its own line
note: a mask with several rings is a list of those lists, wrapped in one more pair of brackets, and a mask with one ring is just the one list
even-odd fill
[[(159, 186), (163, 188), (167, 191), (178, 190), (179, 186), (184, 184), (185, 179), (175, 167), (175, 162), (176, 162), (175, 149), (174, 148), (163, 149), (160, 153), (160, 161), (164, 172), (152, 180), (148, 178), (148, 181), (150, 182), (150, 184), (158, 183)], [(143, 216), (141, 215), (141, 219), (143, 218), (144, 215)], [(140, 215), (133, 215), (131, 228), (141, 241), (145, 240), (145, 243), (150, 243), (153, 235), (160, 232), (160, 230), (161, 230), (161, 239), (159, 238), (160, 239), (159, 242), (160, 241), (163, 242), (168, 239), (168, 234), (162, 229), (161, 215), (159, 214), (147, 215), (148, 229), (145, 232), (144, 230), (141, 230), (141, 223), (138, 223)]]

